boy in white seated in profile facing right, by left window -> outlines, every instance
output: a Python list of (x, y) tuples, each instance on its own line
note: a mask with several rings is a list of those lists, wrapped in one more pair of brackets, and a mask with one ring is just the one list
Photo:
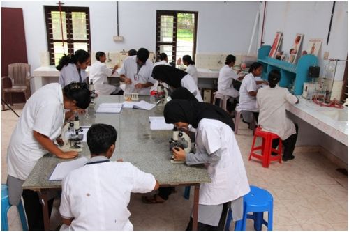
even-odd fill
[(110, 70), (110, 68), (107, 68), (107, 65), (105, 65), (106, 59), (107, 57), (104, 52), (96, 52), (96, 61), (89, 69), (89, 77), (91, 78), (92, 83), (94, 84), (94, 90), (98, 95), (116, 95), (121, 91), (121, 88), (108, 84), (107, 77), (113, 75), (118, 66), (115, 65), (114, 68)]

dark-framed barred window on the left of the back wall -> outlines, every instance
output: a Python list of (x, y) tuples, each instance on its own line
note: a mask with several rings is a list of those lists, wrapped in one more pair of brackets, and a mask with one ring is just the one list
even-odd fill
[(50, 65), (58, 65), (61, 56), (78, 49), (91, 51), (88, 7), (62, 6), (61, 13), (58, 6), (44, 6), (44, 9)]

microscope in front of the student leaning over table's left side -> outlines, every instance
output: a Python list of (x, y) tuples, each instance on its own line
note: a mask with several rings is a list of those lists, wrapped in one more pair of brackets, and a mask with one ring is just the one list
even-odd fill
[[(68, 137), (66, 136), (67, 132)], [(79, 123), (79, 116), (75, 114), (74, 120), (66, 123), (62, 130), (62, 140), (64, 144), (60, 147), (64, 152), (66, 151), (82, 151), (81, 141), (84, 139), (83, 134), (79, 134), (82, 132), (82, 128)]]

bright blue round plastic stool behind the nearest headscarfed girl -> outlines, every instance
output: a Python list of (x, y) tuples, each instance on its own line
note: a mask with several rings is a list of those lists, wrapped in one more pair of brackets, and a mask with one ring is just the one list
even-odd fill
[[(262, 230), (262, 224), (267, 226), (268, 231), (273, 230), (273, 196), (267, 190), (253, 185), (251, 191), (244, 196), (244, 212), (242, 219), (235, 223), (235, 231), (246, 231), (246, 219), (253, 219), (256, 231)], [(253, 212), (249, 215), (248, 212)], [(268, 222), (263, 219), (263, 212), (268, 212)], [(229, 210), (225, 231), (229, 231), (232, 221), (232, 212)]]

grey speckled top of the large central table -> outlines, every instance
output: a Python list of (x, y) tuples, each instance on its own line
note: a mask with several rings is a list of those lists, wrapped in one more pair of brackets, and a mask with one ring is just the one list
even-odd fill
[[(141, 96), (140, 100), (154, 102), (149, 96)], [(117, 129), (117, 148), (110, 160), (122, 158), (131, 162), (140, 170), (152, 173), (161, 185), (179, 185), (210, 182), (205, 167), (198, 165), (188, 167), (186, 164), (172, 164), (168, 140), (170, 130), (150, 130), (149, 116), (163, 116), (163, 107), (154, 107), (150, 111), (142, 109), (122, 109), (120, 114), (96, 114), (101, 102), (124, 102), (123, 96), (99, 96), (95, 105), (88, 108), (89, 118), (80, 116), (80, 125), (105, 123)], [(79, 157), (89, 157), (86, 143)], [(62, 160), (54, 155), (42, 157), (23, 184), (24, 189), (60, 188), (61, 181), (49, 181), (54, 167)]]

